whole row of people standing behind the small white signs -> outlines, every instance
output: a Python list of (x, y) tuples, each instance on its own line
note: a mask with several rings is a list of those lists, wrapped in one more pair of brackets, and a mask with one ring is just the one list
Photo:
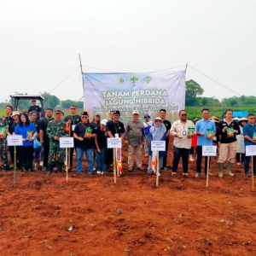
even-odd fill
[[(66, 159), (64, 148), (60, 147), (60, 137), (73, 137), (74, 148), (70, 148), (69, 167), (73, 168), (73, 154), (76, 155), (76, 175), (83, 172), (83, 157), (86, 155), (88, 173), (103, 174), (113, 169), (113, 150), (108, 148), (108, 137), (121, 137), (128, 146), (128, 172), (134, 170), (134, 155), (136, 156), (136, 167), (143, 171), (144, 157), (148, 157), (148, 173), (161, 170), (171, 170), (172, 175), (177, 174), (179, 160), (182, 159), (183, 176), (189, 175), (189, 160), (192, 161), (194, 150), (196, 150), (196, 173), (195, 177), (201, 176), (202, 147), (218, 146), (218, 176), (224, 177), (224, 162), (228, 160), (227, 173), (234, 176), (232, 166), (236, 160), (237, 165), (244, 165), (245, 175), (251, 177), (249, 162), (251, 157), (245, 156), (245, 146), (256, 144), (255, 116), (249, 113), (247, 119), (233, 119), (233, 111), (228, 109), (224, 119), (210, 118), (210, 111), (202, 109), (202, 119), (194, 122), (187, 118), (185, 110), (179, 112), (179, 119), (173, 124), (166, 119), (166, 110), (160, 109), (159, 116), (150, 120), (148, 113), (144, 114), (144, 121), (139, 119), (137, 110), (132, 112), (131, 120), (126, 126), (119, 120), (119, 110), (110, 112), (110, 119), (100, 119), (96, 114), (89, 121), (89, 114), (82, 112), (77, 114), (78, 108), (70, 107), (70, 115), (64, 117), (61, 110), (47, 108), (44, 118), (41, 109), (32, 101), (31, 112), (19, 113), (12, 111), (11, 106), (5, 107), (5, 115), (0, 117), (0, 154), (2, 158), (3, 171), (9, 170), (8, 150), (14, 163), (14, 147), (7, 146), (7, 135), (21, 135), (23, 146), (17, 147), (16, 165), (23, 171), (32, 172), (38, 170), (40, 161), (43, 171), (61, 172)], [(55, 115), (55, 117), (54, 117)], [(167, 153), (169, 138), (173, 139), (172, 166), (167, 165)], [(35, 138), (42, 147), (34, 148)], [(160, 170), (152, 168), (151, 150), (152, 141), (164, 141), (166, 150), (159, 153)], [(75, 152), (74, 152), (75, 150)], [(205, 160), (205, 173), (207, 173), (207, 157)], [(256, 157), (253, 157), (255, 167), (253, 174), (256, 175)], [(154, 170), (153, 170), (154, 169)], [(94, 172), (96, 170), (96, 172)], [(212, 176), (212, 173), (209, 173)]]

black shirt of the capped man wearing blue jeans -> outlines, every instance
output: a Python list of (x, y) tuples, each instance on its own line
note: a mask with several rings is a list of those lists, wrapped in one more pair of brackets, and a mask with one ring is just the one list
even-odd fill
[(86, 138), (86, 134), (90, 133), (90, 134), (94, 134), (95, 133), (95, 129), (93, 127), (93, 125), (91, 125), (90, 123), (87, 124), (83, 124), (83, 123), (79, 123), (76, 125), (75, 130), (73, 131), (74, 133), (76, 133), (76, 135), (78, 137), (83, 137), (84, 141), (79, 141), (79, 140), (75, 140), (76, 141), (76, 147), (77, 148), (92, 148), (92, 140), (94, 140), (94, 138)]

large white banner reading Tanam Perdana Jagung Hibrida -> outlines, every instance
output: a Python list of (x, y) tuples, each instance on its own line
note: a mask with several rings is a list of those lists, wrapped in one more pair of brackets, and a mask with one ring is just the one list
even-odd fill
[(109, 119), (111, 110), (119, 110), (120, 121), (131, 119), (138, 110), (140, 119), (148, 113), (152, 119), (166, 109), (166, 119), (178, 119), (185, 108), (185, 71), (152, 73), (83, 73), (84, 111), (90, 119), (96, 114)]

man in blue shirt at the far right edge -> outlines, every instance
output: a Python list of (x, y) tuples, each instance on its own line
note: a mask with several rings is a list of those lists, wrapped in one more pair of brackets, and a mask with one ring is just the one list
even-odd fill
[[(244, 146), (255, 146), (256, 144), (256, 124), (255, 115), (253, 113), (248, 114), (248, 122), (243, 126)], [(247, 177), (251, 177), (249, 172), (251, 156), (245, 156), (244, 158), (244, 173)], [(256, 155), (253, 155), (253, 175), (256, 175)]]

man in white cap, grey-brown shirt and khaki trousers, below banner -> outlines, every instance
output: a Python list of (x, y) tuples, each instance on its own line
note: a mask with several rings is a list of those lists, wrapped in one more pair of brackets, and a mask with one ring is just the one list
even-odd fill
[(132, 112), (132, 119), (127, 122), (125, 144), (128, 145), (128, 172), (133, 169), (133, 154), (136, 155), (137, 169), (143, 171), (142, 146), (145, 143), (144, 125), (139, 121), (137, 110)]

